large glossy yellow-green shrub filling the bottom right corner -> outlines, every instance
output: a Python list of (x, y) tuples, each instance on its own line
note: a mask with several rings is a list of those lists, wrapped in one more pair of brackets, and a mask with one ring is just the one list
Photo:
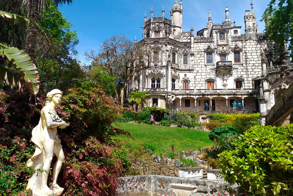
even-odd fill
[(221, 174), (249, 195), (293, 194), (293, 124), (253, 126), (219, 155)]

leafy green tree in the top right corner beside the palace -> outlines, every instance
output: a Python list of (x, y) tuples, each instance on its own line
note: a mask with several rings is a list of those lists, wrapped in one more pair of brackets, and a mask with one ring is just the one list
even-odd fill
[(271, 0), (262, 16), (265, 33), (283, 50), (284, 40), (293, 59), (293, 0)]

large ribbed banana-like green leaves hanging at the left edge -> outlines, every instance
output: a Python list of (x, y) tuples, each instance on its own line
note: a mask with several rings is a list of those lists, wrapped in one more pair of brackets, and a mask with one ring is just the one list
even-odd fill
[[(36, 27), (39, 27), (35, 21), (29, 20), (17, 14), (10, 14), (8, 12), (0, 11), (0, 17), (11, 23), (14, 23), (15, 21), (27, 21), (29, 24), (35, 24)], [(18, 48), (0, 42), (0, 56), (4, 56), (8, 59), (9, 63), (11, 63), (11, 65), (15, 68), (15, 71), (18, 71), (18, 73), (20, 73), (23, 77), (31, 93), (37, 94), (39, 91), (39, 74), (38, 71), (36, 71), (35, 64), (28, 54), (23, 50), (19, 50)], [(11, 71), (4, 66), (0, 66), (0, 70), (0, 80), (4, 81), (6, 85), (13, 88), (16, 86), (16, 83), (19, 83), (19, 87), (21, 87), (21, 83), (19, 82), (16, 72)]]

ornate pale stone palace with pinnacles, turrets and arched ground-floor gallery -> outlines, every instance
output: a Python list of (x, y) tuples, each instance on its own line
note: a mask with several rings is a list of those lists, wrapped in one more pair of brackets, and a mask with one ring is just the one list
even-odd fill
[(153, 17), (153, 12), (151, 9), (150, 19), (145, 13), (140, 41), (152, 51), (150, 66), (129, 85), (130, 91), (151, 95), (147, 106), (229, 112), (235, 101), (242, 104), (241, 111), (257, 112), (263, 103), (259, 100), (262, 86), (263, 115), (270, 110), (275, 101), (271, 98), (277, 99), (270, 87), (280, 76), (291, 76), (292, 67), (282, 70), (285, 53), (280, 55), (277, 45), (258, 32), (253, 3), (244, 14), (244, 33), (229, 18), (228, 8), (220, 24), (213, 23), (209, 11), (207, 26), (196, 35), (192, 25), (190, 31), (182, 29), (182, 2), (175, 1), (171, 19), (165, 18), (164, 9), (162, 17)]

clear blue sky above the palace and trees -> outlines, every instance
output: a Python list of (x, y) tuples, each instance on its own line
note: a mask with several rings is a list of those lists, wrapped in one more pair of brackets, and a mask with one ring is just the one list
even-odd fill
[[(228, 7), (231, 21), (236, 26), (242, 26), (244, 33), (244, 13), (250, 10), (251, 0), (183, 0), (183, 31), (189, 31), (193, 23), (194, 31), (199, 31), (207, 25), (209, 9), (212, 12), (213, 23), (222, 23), (225, 19), (225, 9)], [(144, 12), (149, 19), (151, 6), (154, 17), (162, 16), (162, 6), (165, 18), (170, 19), (170, 11), (175, 0), (73, 0), (72, 5), (59, 6), (63, 17), (73, 24), (80, 40), (76, 47), (79, 59), (85, 63), (83, 53), (91, 49), (98, 50), (100, 44), (115, 34), (125, 34), (130, 40), (142, 39)], [(180, 3), (180, 0), (178, 0)], [(262, 14), (268, 6), (269, 0), (253, 0), (255, 16), (259, 24), (259, 31), (263, 32), (264, 22), (260, 22)]]

